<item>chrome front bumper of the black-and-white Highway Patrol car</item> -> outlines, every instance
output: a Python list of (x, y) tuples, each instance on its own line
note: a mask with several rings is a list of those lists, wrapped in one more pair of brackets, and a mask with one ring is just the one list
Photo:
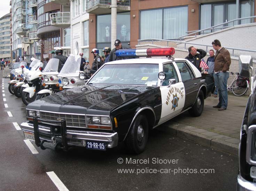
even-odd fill
[[(54, 125), (53, 125), (54, 126)], [(21, 129), (24, 132), (31, 132), (34, 133), (34, 124), (33, 122), (23, 122), (21, 123)], [(56, 125), (57, 127), (57, 125)], [(66, 130), (67, 133), (64, 136), (65, 142), (67, 142), (68, 146), (81, 146), (86, 147), (86, 140), (91, 141), (100, 141), (105, 142), (107, 148), (116, 147), (118, 144), (118, 134), (117, 132), (114, 133), (106, 133), (106, 132), (97, 132), (97, 131), (88, 131), (88, 130)], [(52, 130), (51, 127), (47, 125), (38, 125), (38, 132), (40, 140), (46, 140), (51, 142), (52, 141)], [(36, 136), (36, 133), (35, 133)], [(63, 136), (57, 137), (59, 140), (63, 140)]]

